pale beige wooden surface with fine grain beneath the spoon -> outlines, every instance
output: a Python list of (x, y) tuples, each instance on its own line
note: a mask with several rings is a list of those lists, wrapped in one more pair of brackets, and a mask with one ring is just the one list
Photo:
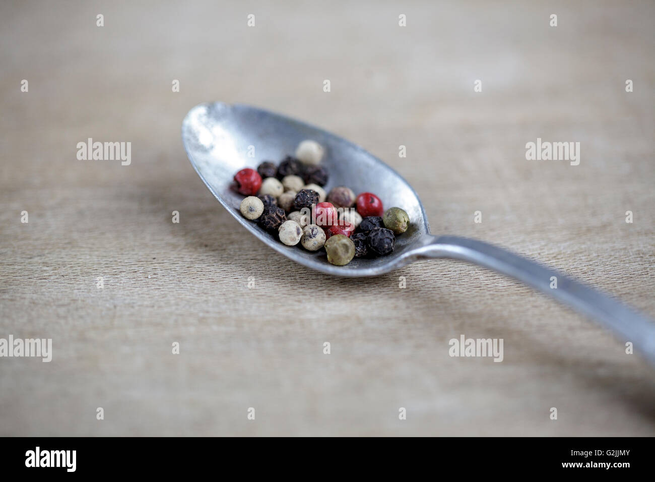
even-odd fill
[[(221, 209), (179, 135), (207, 100), (320, 125), (402, 173), (434, 233), (655, 316), (654, 5), (236, 4), (0, 6), (0, 338), (53, 344), (0, 359), (0, 435), (655, 435), (624, 340), (454, 261), (297, 266)], [(132, 142), (131, 165), (77, 160), (89, 137)], [(538, 137), (580, 142), (580, 165), (527, 161)], [(503, 338), (504, 361), (449, 357), (460, 334)]]

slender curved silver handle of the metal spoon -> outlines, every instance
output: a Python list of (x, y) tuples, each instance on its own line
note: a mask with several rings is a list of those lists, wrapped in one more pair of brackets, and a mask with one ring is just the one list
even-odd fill
[(513, 277), (599, 321), (622, 341), (632, 342), (635, 352), (655, 366), (655, 323), (645, 315), (559, 271), (505, 249), (466, 237), (432, 238), (416, 252), (419, 257), (464, 260)]

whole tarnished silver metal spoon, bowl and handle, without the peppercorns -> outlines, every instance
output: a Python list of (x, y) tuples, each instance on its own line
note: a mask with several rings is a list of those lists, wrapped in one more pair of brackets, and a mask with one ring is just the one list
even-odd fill
[[(355, 258), (346, 266), (333, 266), (324, 253), (286, 246), (241, 216), (242, 196), (231, 189), (233, 176), (243, 167), (256, 167), (264, 159), (277, 161), (293, 154), (301, 140), (313, 139), (326, 149), (323, 165), (332, 186), (348, 186), (355, 193), (380, 195), (386, 207), (407, 211), (411, 228), (396, 239), (395, 251), (381, 258)], [(457, 236), (434, 236), (417, 193), (393, 169), (347, 140), (303, 122), (244, 105), (221, 102), (200, 104), (182, 122), (182, 140), (191, 164), (214, 197), (272, 249), (291, 260), (323, 273), (360, 277), (377, 276), (423, 258), (455, 258), (513, 277), (596, 319), (635, 352), (655, 365), (655, 325), (606, 294), (574, 281), (559, 271), (521, 258), (504, 249)], [(255, 156), (252, 155), (254, 149)], [(552, 289), (553, 277), (557, 288)]]

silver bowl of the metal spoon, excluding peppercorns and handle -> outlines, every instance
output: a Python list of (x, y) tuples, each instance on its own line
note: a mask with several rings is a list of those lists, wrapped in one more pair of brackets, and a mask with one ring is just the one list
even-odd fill
[[(410, 262), (411, 248), (429, 242), (430, 226), (417, 193), (398, 172), (352, 142), (318, 127), (283, 115), (221, 102), (195, 106), (182, 123), (182, 139), (191, 164), (214, 197), (247, 230), (295, 262), (331, 275), (376, 276)], [(388, 256), (354, 258), (346, 266), (327, 262), (323, 250), (305, 251), (299, 245), (286, 246), (239, 211), (243, 195), (233, 189), (233, 176), (244, 167), (256, 167), (264, 160), (278, 163), (293, 155), (305, 139), (316, 140), (325, 149), (321, 161), (329, 173), (326, 192), (348, 186), (354, 193), (378, 193), (386, 207), (397, 206), (409, 215), (411, 226), (396, 239)], [(248, 154), (254, 148), (255, 157)]]

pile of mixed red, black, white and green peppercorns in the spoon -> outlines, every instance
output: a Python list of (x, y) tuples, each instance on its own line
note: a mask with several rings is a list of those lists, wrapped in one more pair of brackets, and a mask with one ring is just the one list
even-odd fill
[(285, 157), (278, 166), (264, 161), (257, 171), (238, 171), (235, 188), (247, 196), (241, 202), (241, 214), (278, 233), (285, 245), (300, 243), (307, 251), (324, 248), (327, 260), (337, 266), (352, 258), (394, 251), (396, 235), (409, 228), (407, 212), (398, 207), (385, 212), (377, 195), (355, 196), (345, 186), (326, 194), (323, 186), (328, 174), (320, 165), (323, 153), (318, 142), (303, 140), (295, 157)]

